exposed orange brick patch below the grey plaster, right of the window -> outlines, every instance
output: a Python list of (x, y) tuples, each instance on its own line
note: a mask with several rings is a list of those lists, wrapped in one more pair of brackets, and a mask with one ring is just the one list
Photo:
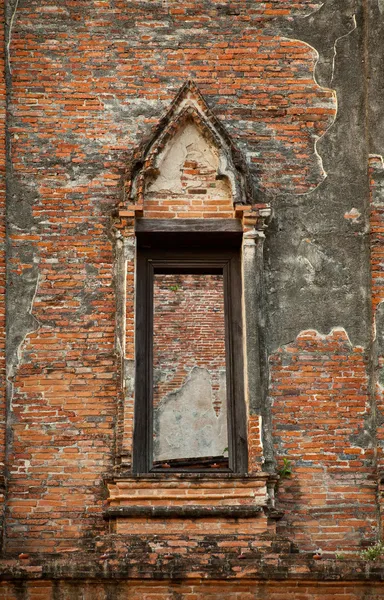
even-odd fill
[(356, 551), (377, 528), (366, 357), (345, 331), (302, 332), (271, 356), (273, 428), (281, 482), (278, 528), (300, 547)]

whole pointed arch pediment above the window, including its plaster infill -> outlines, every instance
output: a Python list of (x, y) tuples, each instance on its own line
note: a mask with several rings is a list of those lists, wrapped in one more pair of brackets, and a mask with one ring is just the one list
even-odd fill
[(160, 202), (159, 210), (165, 210), (161, 202), (167, 202), (165, 216), (186, 216), (184, 209), (192, 214), (198, 206), (213, 216), (218, 207), (231, 211), (254, 202), (241, 152), (192, 81), (135, 153), (125, 189), (136, 206), (154, 208)]

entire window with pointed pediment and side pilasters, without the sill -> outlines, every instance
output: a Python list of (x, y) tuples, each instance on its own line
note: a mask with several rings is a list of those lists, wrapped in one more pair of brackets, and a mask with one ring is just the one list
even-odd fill
[(119, 477), (273, 469), (263, 342), (271, 208), (256, 201), (246, 160), (186, 82), (133, 152), (115, 213)]

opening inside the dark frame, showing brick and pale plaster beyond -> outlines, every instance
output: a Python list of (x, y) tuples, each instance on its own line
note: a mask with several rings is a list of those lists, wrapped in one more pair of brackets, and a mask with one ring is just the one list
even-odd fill
[(158, 273), (153, 466), (229, 467), (222, 274)]

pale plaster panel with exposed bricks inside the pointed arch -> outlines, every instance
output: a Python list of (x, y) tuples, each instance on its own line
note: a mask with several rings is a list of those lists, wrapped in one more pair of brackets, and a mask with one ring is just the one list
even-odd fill
[[(157, 158), (159, 175), (148, 185), (148, 193), (167, 192), (182, 195), (193, 188), (207, 188), (205, 198), (231, 198), (229, 185), (217, 180), (219, 152), (193, 123), (183, 127)], [(190, 168), (194, 164), (195, 169)], [(196, 171), (196, 174), (189, 171)], [(208, 184), (208, 185), (207, 185)], [(214, 187), (209, 187), (212, 184)], [(212, 190), (212, 191), (210, 191)]]

